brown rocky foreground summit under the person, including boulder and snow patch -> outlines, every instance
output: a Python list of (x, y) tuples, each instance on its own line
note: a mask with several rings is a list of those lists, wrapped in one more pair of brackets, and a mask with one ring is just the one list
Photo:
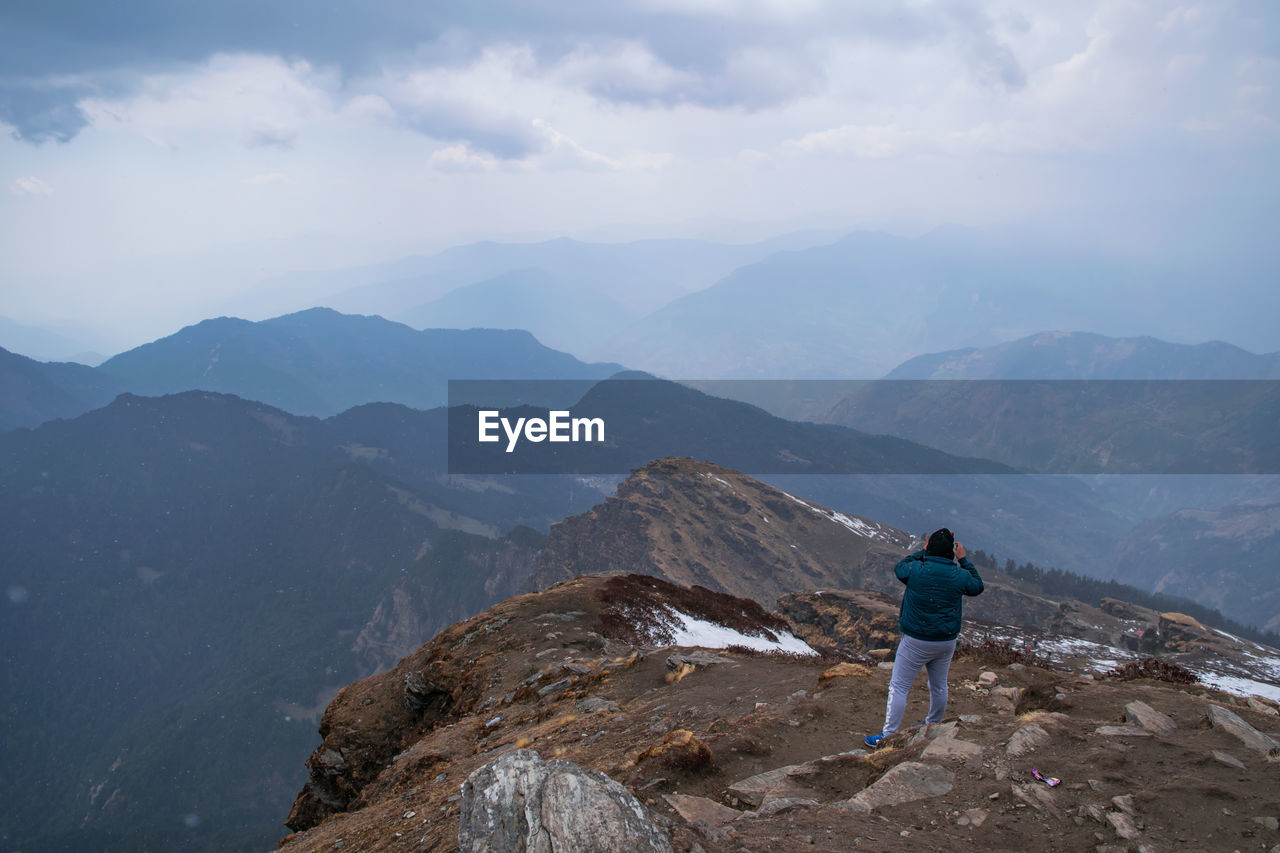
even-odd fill
[[(1280, 844), (1274, 701), (1103, 675), (1083, 652), (966, 644), (946, 720), (865, 751), (883, 716), (891, 612), (854, 590), (769, 612), (643, 575), (508, 599), (338, 694), (280, 847)], [(918, 685), (909, 722), (927, 702)]]

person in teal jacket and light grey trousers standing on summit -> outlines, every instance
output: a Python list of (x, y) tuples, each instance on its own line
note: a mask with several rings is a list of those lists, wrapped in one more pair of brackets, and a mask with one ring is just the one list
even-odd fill
[(960, 635), (964, 597), (977, 596), (983, 589), (978, 570), (965, 558), (964, 546), (946, 528), (933, 532), (924, 549), (899, 562), (893, 574), (906, 584), (897, 617), (902, 639), (893, 657), (884, 727), (864, 738), (872, 749), (902, 724), (906, 693), (920, 667), (929, 674), (929, 716), (924, 721), (942, 722), (947, 707), (947, 670)]

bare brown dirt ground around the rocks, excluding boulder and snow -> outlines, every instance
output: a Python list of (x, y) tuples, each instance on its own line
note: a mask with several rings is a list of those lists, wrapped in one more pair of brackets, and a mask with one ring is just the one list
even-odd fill
[[(580, 578), (503, 602), (442, 633), (396, 670), (343, 690), (325, 717), (329, 743), (340, 742), (349, 756), (376, 758), (376, 766), (362, 768), (372, 781), (349, 811), (288, 836), (282, 848), (453, 850), (462, 781), (517, 745), (623, 783), (668, 826), (677, 850), (1083, 850), (1100, 844), (1137, 849), (1139, 841), (1155, 850), (1268, 850), (1280, 844), (1280, 833), (1254, 820), (1280, 816), (1280, 762), (1208, 727), (1204, 713), (1207, 702), (1216, 701), (1271, 734), (1280, 729), (1276, 717), (1198, 686), (1087, 680), (973, 660), (952, 665), (947, 719), (977, 715), (977, 722), (961, 721), (956, 735), (983, 752), (968, 762), (923, 760), (955, 772), (950, 793), (870, 815), (837, 807), (897, 762), (922, 760), (925, 744), (909, 747), (902, 734), (869, 758), (835, 761), (806, 777), (818, 806), (772, 816), (744, 811), (718, 830), (690, 826), (663, 794), (735, 806), (727, 788), (740, 779), (860, 748), (863, 735), (882, 722), (888, 672), (872, 665), (868, 676), (819, 683), (831, 660), (719, 652), (726, 662), (698, 666), (671, 681), (666, 658), (676, 649), (640, 649), (634, 656), (631, 647), (600, 635), (602, 584), (599, 578)], [(433, 660), (461, 674), (453, 704), (436, 715), (434, 727), (430, 713), (415, 719), (403, 707), (401, 693), (404, 675)], [(586, 671), (559, 670), (567, 661)], [(997, 710), (993, 697), (975, 684), (988, 669), (1000, 686), (1041, 688), (1034, 694), (1050, 698), (1062, 693), (1057, 702), (1065, 716), (1029, 710), (1019, 717)], [(538, 694), (564, 678), (571, 684), (563, 693)], [(611, 699), (618, 711), (582, 713), (575, 703), (584, 697)], [(1178, 730), (1167, 736), (1094, 734), (1101, 725), (1119, 725), (1133, 699), (1172, 717)], [(922, 720), (927, 704), (922, 675), (908, 701), (906, 722)], [(1051, 738), (1011, 758), (1005, 744), (1028, 721)], [(664, 751), (667, 735), (677, 730), (692, 733), (695, 740), (681, 745), (677, 736)], [(1215, 749), (1235, 756), (1245, 768), (1219, 762)], [(646, 751), (650, 754), (641, 757)], [(1032, 768), (1060, 777), (1061, 786), (1047, 789), (1030, 776)], [(1044, 799), (1037, 798), (1037, 788)], [(1116, 811), (1111, 798), (1125, 794), (1133, 795), (1140, 830), (1129, 843), (1084, 811)], [(979, 827), (957, 822), (975, 808), (988, 812)]]

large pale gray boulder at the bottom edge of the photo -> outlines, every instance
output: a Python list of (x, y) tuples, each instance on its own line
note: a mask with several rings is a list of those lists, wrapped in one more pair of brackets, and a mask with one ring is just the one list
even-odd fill
[(571, 761), (513, 749), (462, 784), (462, 853), (672, 853), (631, 792)]

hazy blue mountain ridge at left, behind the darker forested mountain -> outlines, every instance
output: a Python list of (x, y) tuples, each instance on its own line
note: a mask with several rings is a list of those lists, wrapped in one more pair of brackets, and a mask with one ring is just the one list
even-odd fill
[(584, 364), (522, 330), (417, 332), (328, 309), (260, 323), (205, 320), (99, 368), (0, 353), (0, 429), (73, 418), (125, 391), (216, 391), (297, 415), (334, 415), (369, 402), (440, 406), (449, 379), (599, 379), (621, 370)]

